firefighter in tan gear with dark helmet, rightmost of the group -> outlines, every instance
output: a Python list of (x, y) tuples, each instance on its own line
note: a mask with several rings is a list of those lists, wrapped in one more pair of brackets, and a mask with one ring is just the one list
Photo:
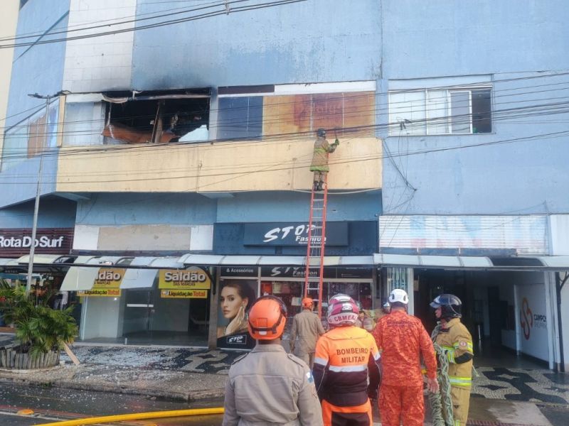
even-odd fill
[(435, 343), (445, 350), (449, 361), (454, 426), (463, 426), (467, 424), (472, 387), (472, 336), (460, 322), (462, 302), (457, 296), (440, 295), (430, 305), (441, 325)]

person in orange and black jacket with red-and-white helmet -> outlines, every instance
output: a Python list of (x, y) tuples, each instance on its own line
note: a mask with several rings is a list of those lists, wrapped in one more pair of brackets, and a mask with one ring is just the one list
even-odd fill
[(324, 426), (372, 425), (368, 395), (377, 398), (379, 351), (371, 334), (353, 325), (358, 313), (347, 295), (329, 301), (332, 329), (318, 339), (313, 370)]

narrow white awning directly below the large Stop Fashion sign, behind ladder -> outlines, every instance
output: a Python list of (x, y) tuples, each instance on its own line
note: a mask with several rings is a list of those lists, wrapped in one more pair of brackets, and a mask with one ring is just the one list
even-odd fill
[[(184, 265), (204, 266), (304, 266), (306, 256), (219, 256), (184, 254), (178, 259)], [(372, 266), (373, 256), (325, 256), (325, 266)]]

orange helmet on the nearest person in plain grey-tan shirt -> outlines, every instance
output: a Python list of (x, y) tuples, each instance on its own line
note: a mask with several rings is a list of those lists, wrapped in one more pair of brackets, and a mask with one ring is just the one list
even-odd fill
[(287, 322), (287, 307), (278, 297), (259, 297), (249, 310), (248, 329), (256, 340), (281, 337)]

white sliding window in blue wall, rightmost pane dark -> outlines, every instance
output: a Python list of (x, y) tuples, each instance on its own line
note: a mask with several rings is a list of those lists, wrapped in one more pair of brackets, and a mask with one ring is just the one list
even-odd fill
[(389, 92), (389, 133), (491, 133), (491, 88)]

